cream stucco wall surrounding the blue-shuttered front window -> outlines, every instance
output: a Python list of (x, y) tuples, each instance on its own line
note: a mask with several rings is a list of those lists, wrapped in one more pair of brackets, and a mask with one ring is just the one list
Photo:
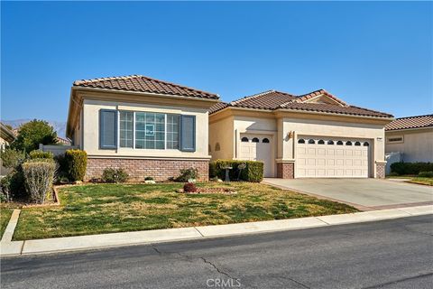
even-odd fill
[[(117, 109), (129, 111), (149, 111), (196, 116), (196, 151), (181, 152), (180, 150), (134, 149), (119, 147), (116, 150), (99, 149), (99, 110)], [(79, 134), (79, 132), (78, 132)], [(169, 107), (149, 104), (124, 103), (120, 101), (103, 101), (84, 99), (82, 109), (82, 142), (81, 147), (90, 156), (113, 157), (148, 157), (148, 158), (180, 158), (202, 159), (210, 158), (207, 152), (208, 144), (208, 114), (205, 108)]]

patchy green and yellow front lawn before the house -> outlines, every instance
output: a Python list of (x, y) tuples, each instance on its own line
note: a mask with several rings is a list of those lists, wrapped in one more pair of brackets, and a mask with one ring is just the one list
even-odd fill
[(60, 189), (60, 207), (26, 208), (15, 240), (181, 228), (357, 211), (348, 205), (260, 183), (206, 183), (237, 194), (183, 194), (180, 183), (86, 184)]

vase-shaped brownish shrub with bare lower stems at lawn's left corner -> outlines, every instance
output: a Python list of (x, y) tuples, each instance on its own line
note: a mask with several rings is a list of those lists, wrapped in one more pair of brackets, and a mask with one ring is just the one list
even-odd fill
[(50, 159), (34, 159), (23, 163), (25, 187), (30, 200), (43, 203), (51, 189), (56, 171), (56, 163)]

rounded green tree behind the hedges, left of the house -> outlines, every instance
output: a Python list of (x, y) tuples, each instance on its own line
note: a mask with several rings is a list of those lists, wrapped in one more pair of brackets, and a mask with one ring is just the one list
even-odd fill
[(32, 120), (23, 124), (18, 129), (18, 136), (11, 147), (24, 151), (32, 152), (39, 148), (39, 144), (56, 144), (57, 133), (48, 122), (43, 120)]

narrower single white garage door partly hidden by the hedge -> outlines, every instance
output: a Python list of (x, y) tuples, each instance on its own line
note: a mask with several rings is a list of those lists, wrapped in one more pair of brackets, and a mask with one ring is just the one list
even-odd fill
[(263, 135), (241, 135), (239, 158), (262, 161), (264, 177), (272, 177), (272, 138)]

